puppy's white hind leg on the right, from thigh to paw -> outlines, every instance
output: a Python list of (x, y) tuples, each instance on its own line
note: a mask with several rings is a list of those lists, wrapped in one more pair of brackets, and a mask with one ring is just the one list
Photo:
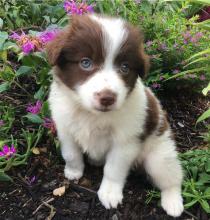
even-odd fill
[(184, 207), (181, 196), (182, 169), (175, 143), (166, 132), (161, 137), (148, 140), (145, 148), (145, 169), (161, 190), (161, 205), (168, 215), (178, 217)]

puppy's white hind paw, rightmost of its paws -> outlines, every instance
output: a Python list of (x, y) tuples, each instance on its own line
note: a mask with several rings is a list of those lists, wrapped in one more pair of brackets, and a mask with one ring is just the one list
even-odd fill
[(166, 189), (161, 192), (161, 206), (166, 213), (178, 217), (184, 210), (183, 199), (177, 188)]

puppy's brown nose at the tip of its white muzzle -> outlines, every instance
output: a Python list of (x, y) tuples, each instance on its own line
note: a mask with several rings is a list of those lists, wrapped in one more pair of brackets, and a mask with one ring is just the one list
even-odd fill
[(115, 103), (117, 95), (111, 90), (103, 90), (97, 92), (96, 97), (101, 105), (108, 107)]

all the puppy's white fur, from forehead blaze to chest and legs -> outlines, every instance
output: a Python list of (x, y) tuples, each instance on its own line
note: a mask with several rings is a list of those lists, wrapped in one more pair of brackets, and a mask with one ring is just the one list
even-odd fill
[[(78, 85), (76, 91), (66, 87), (56, 76), (51, 85), (49, 103), (66, 161), (65, 176), (71, 180), (83, 175), (83, 153), (95, 161), (105, 161), (98, 196), (106, 208), (116, 208), (122, 202), (130, 168), (136, 162), (143, 163), (161, 190), (162, 207), (169, 215), (179, 216), (183, 211), (182, 170), (170, 130), (161, 136), (154, 132), (141, 143), (139, 136), (144, 131), (147, 114), (145, 87), (138, 79), (128, 95), (128, 89), (113, 67), (113, 58), (126, 37), (123, 22), (96, 20), (107, 33), (104, 44), (111, 45), (107, 44), (108, 56), (103, 68)], [(104, 89), (117, 93), (117, 102), (112, 111), (97, 112), (98, 103), (93, 94)]]

